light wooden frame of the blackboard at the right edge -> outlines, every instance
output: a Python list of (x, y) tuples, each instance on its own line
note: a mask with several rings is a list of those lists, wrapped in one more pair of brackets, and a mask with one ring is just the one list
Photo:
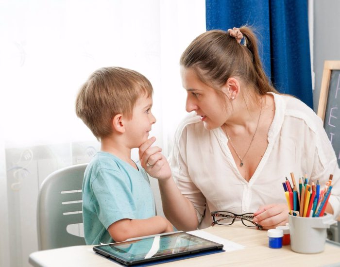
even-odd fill
[(322, 120), (324, 120), (324, 116), (326, 113), (329, 82), (331, 79), (331, 73), (333, 69), (340, 70), (340, 61), (326, 60), (323, 66), (323, 79), (321, 82), (320, 98), (318, 105), (318, 116), (321, 117)]

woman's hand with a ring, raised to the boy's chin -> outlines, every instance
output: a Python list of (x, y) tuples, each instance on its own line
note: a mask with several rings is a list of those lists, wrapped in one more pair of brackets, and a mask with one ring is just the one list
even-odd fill
[(161, 180), (169, 179), (171, 177), (169, 163), (161, 153), (161, 148), (151, 147), (154, 141), (156, 138), (151, 137), (139, 147), (140, 163), (152, 177)]

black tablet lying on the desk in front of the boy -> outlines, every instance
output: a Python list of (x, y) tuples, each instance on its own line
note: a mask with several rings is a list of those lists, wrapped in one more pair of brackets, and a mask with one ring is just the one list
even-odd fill
[(93, 250), (107, 258), (131, 266), (222, 248), (222, 244), (196, 235), (175, 232), (99, 245), (93, 247)]

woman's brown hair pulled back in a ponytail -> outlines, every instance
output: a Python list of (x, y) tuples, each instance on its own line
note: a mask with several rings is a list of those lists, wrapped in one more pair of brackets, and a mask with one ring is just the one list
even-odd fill
[(239, 30), (244, 37), (243, 45), (225, 31), (202, 33), (183, 52), (181, 66), (194, 69), (203, 83), (215, 89), (230, 77), (239, 77), (259, 95), (277, 93), (262, 68), (254, 32), (246, 26)]

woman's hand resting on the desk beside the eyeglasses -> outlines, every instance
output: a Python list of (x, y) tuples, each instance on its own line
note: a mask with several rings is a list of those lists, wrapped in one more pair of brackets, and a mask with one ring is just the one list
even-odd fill
[(289, 209), (287, 204), (270, 204), (260, 206), (254, 212), (253, 221), (263, 226), (263, 229), (268, 230), (279, 225), (285, 225), (288, 222)]

